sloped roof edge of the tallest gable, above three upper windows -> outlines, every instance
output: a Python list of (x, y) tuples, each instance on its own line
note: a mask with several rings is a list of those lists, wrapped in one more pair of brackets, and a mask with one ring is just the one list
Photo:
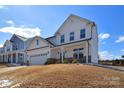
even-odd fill
[(77, 19), (79, 19), (79, 20), (81, 20), (81, 21), (85, 21), (85, 22), (87, 22), (87, 23), (93, 23), (93, 21), (90, 21), (90, 20), (88, 20), (88, 19), (82, 18), (82, 17), (77, 16), (77, 15), (74, 15), (74, 14), (70, 14), (70, 16), (63, 22), (63, 24), (59, 27), (59, 29), (55, 32), (54, 35), (56, 35), (56, 34), (59, 32), (59, 30), (63, 27), (63, 25), (64, 25), (70, 18), (72, 18), (72, 17), (77, 18)]

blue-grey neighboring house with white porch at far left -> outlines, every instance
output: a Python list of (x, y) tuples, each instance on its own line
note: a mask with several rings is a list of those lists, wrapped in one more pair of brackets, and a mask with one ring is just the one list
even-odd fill
[(3, 47), (0, 48), (0, 62), (23, 63), (26, 62), (26, 42), (27, 38), (13, 35), (10, 40), (6, 40)]

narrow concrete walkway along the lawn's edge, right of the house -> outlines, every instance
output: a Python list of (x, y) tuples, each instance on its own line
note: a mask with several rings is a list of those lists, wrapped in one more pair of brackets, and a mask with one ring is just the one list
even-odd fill
[(109, 65), (102, 65), (102, 64), (88, 64), (88, 65), (93, 65), (93, 66), (99, 66), (99, 67), (104, 67), (104, 68), (109, 68), (113, 70), (118, 70), (118, 71), (123, 71), (124, 72), (124, 66), (109, 66)]

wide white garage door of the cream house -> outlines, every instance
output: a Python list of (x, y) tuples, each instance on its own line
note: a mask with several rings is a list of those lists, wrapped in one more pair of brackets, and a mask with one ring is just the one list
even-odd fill
[(38, 54), (38, 55), (30, 56), (30, 64), (31, 65), (44, 64), (46, 61), (47, 61), (46, 54)]

